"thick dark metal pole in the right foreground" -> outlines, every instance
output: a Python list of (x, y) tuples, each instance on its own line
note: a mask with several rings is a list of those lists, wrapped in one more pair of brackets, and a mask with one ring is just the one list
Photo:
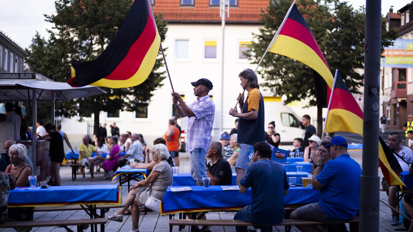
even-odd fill
[(381, 0), (366, 0), (364, 54), (363, 173), (360, 178), (359, 231), (379, 231), (377, 175), (380, 112)]

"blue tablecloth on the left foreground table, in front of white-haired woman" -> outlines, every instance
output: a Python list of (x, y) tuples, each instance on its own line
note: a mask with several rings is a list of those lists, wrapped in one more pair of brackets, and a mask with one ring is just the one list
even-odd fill
[(8, 207), (121, 204), (119, 185), (17, 187), (9, 193)]

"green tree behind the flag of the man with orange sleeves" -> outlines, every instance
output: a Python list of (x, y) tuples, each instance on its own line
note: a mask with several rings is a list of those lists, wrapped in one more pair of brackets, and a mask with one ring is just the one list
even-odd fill
[[(320, 50), (334, 76), (338, 69), (351, 92), (359, 93), (363, 86), (363, 75), (356, 69), (363, 69), (364, 62), (364, 26), (365, 9), (354, 9), (348, 2), (338, 0), (298, 0), (297, 8), (309, 25)], [(254, 34), (251, 50), (256, 54), (252, 62), (258, 64), (266, 48), (278, 30), (289, 7), (290, 0), (270, 0), (270, 5), (261, 14), (263, 28)], [(382, 49), (397, 38), (393, 28), (385, 29), (382, 21)], [(263, 80), (263, 87), (274, 95), (287, 96), (285, 103), (309, 99), (308, 106), (316, 105), (313, 73), (305, 64), (289, 57), (268, 52), (258, 71)], [(322, 109), (318, 109), (318, 134), (322, 130)]]

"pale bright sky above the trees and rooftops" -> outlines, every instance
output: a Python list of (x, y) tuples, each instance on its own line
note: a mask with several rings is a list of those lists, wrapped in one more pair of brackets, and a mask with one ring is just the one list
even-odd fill
[[(356, 9), (366, 4), (364, 0), (347, 1)], [(0, 0), (0, 30), (23, 48), (31, 44), (36, 31), (48, 39), (46, 29), (52, 29), (53, 24), (46, 22), (43, 14), (55, 14), (54, 2), (55, 0)], [(394, 6), (393, 12), (397, 12), (410, 2), (411, 0), (382, 0), (382, 14), (386, 15), (391, 5)]]

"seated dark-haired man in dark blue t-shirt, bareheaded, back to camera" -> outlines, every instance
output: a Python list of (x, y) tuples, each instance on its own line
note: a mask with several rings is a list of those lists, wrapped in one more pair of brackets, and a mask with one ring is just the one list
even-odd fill
[[(240, 192), (252, 190), (252, 204), (245, 206), (234, 219), (244, 222), (273, 225), (284, 219), (284, 196), (288, 194), (287, 173), (282, 164), (271, 160), (267, 142), (254, 144), (252, 163), (240, 181)], [(236, 226), (237, 232), (247, 232), (246, 226)], [(261, 232), (273, 231), (272, 226), (261, 227)]]

